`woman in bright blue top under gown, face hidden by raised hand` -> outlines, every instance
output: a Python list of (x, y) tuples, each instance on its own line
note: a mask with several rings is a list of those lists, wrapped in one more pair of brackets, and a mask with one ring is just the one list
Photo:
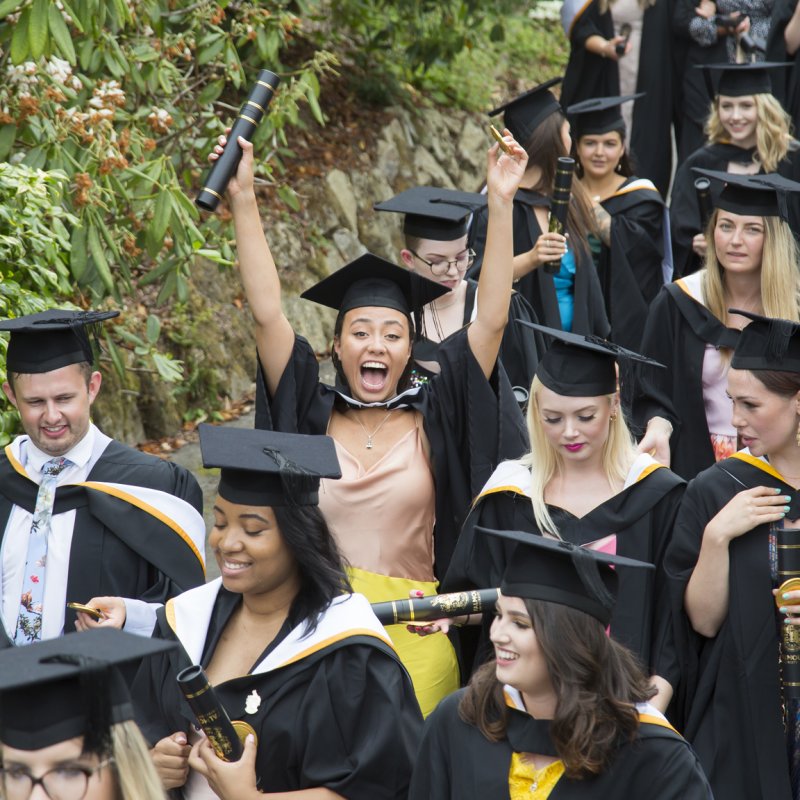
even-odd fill
[[(548, 232), (558, 159), (568, 156), (572, 147), (569, 123), (549, 91), (559, 81), (547, 81), (490, 112), (503, 112), (503, 123), (528, 154), (514, 195), (514, 288), (543, 325), (607, 336), (608, 319), (588, 240), (594, 217), (580, 184), (573, 184), (568, 238)], [(478, 254), (470, 277), (481, 272), (486, 236), (487, 219), (479, 213), (470, 229), (470, 246)], [(556, 273), (545, 265), (555, 265)]]

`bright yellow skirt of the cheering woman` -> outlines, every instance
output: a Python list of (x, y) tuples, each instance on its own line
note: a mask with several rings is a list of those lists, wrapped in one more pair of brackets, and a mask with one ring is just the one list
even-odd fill
[[(363, 594), (370, 603), (407, 598), (412, 589), (422, 589), (426, 595), (436, 594), (438, 583), (392, 578), (367, 572), (358, 567), (348, 569), (354, 592)], [(418, 636), (409, 633), (405, 625), (387, 625), (397, 655), (414, 684), (419, 707), (427, 717), (439, 701), (459, 687), (458, 661), (453, 645), (443, 633)]]

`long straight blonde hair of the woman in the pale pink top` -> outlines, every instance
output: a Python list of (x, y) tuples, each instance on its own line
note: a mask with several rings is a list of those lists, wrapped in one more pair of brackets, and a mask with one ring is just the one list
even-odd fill
[[(702, 279), (703, 300), (720, 322), (728, 318), (725, 269), (714, 248), (715, 210), (706, 228), (706, 259)], [(761, 309), (767, 317), (800, 322), (800, 253), (789, 226), (779, 217), (762, 217), (764, 249), (761, 254)]]

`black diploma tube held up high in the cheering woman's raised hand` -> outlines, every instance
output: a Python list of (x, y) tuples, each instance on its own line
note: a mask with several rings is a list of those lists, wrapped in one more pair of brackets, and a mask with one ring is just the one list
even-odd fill
[(242, 159), (239, 137), (241, 136), (247, 141), (252, 140), (258, 124), (269, 109), (269, 104), (279, 83), (280, 78), (274, 72), (270, 72), (268, 69), (262, 69), (259, 72), (250, 94), (234, 120), (225, 150), (203, 178), (202, 189), (195, 200), (200, 208), (214, 211), (219, 205), (228, 182)]

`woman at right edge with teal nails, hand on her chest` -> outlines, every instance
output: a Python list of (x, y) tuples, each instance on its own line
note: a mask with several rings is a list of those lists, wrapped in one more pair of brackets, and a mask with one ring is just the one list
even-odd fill
[(779, 643), (800, 624), (800, 593), (776, 598), (775, 587), (783, 531), (800, 526), (800, 325), (736, 313), (752, 320), (727, 380), (744, 449), (689, 484), (665, 559), (684, 733), (716, 797), (792, 800), (797, 701), (784, 691)]

